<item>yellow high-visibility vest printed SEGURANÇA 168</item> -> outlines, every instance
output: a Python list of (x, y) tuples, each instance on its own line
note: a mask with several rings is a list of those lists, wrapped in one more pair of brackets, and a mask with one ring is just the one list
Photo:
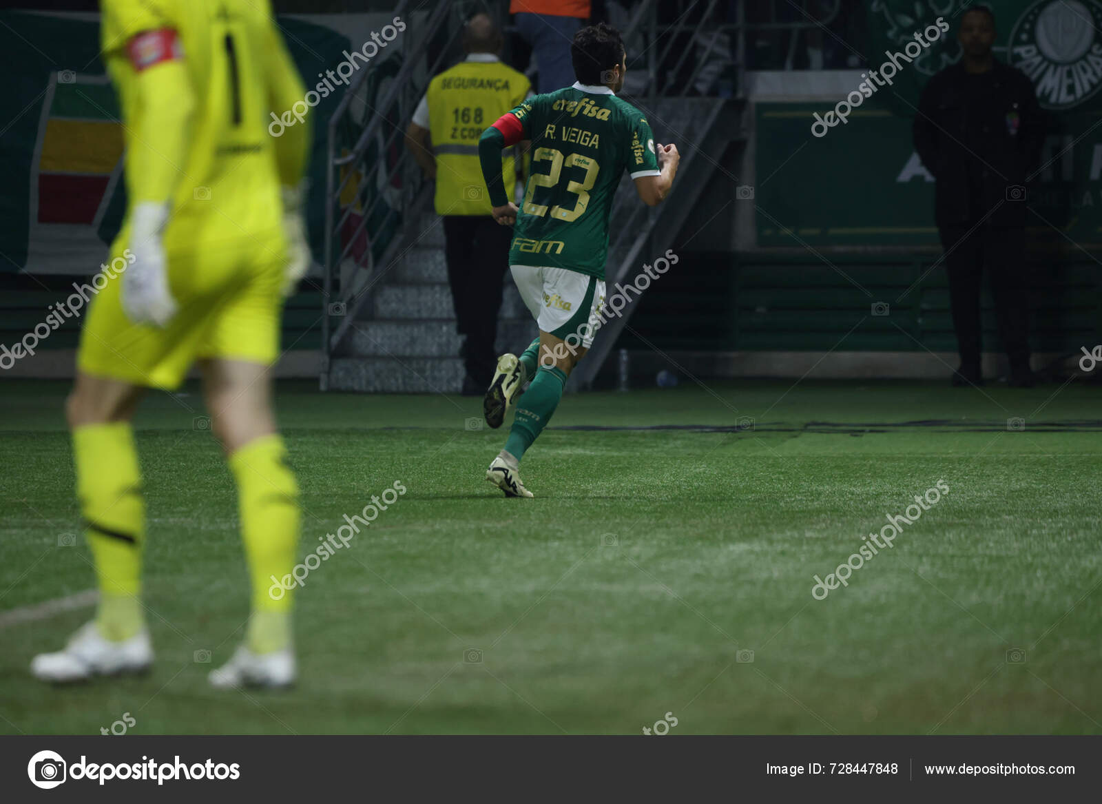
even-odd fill
[[(489, 215), (491, 204), (478, 162), (478, 138), (518, 106), (528, 78), (501, 62), (466, 61), (429, 84), (429, 132), (436, 157), (436, 214)], [(516, 185), (511, 149), (503, 151), (501, 178), (510, 197)]]

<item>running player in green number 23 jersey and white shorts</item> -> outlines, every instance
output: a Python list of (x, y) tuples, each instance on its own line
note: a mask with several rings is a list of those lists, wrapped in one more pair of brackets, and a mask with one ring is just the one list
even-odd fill
[[(655, 144), (647, 118), (616, 97), (627, 60), (619, 32), (599, 24), (574, 35), (571, 58), (577, 82), (536, 95), (498, 118), (478, 142), (494, 218), (515, 224), (509, 267), (540, 336), (520, 357), (498, 358), (484, 411), (500, 427), (521, 386), (517, 415), (486, 480), (506, 496), (530, 497), (520, 482), (525, 451), (547, 427), (562, 398), (566, 377), (604, 322), (608, 215), (620, 175), (627, 170), (648, 206), (673, 184), (680, 156), (672, 144)], [(521, 208), (501, 181), (501, 149), (530, 140), (532, 163)]]

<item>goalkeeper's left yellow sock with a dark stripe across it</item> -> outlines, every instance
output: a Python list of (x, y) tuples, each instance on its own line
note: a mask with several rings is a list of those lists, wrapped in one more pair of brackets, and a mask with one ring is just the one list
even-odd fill
[(108, 640), (128, 640), (144, 625), (139, 596), (145, 501), (133, 430), (125, 421), (78, 427), (73, 431), (73, 455), (85, 537), (99, 583), (96, 625)]

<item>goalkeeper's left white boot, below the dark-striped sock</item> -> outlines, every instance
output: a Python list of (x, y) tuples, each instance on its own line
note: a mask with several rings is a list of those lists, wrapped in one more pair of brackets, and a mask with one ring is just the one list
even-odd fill
[(153, 664), (153, 646), (149, 632), (142, 631), (129, 640), (111, 642), (100, 635), (95, 622), (69, 637), (57, 653), (40, 653), (31, 661), (35, 678), (54, 684), (83, 682), (93, 676), (142, 673)]

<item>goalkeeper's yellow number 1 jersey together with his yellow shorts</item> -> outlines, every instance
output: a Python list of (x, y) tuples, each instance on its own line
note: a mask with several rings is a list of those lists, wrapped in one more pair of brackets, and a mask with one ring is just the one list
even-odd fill
[[(269, 133), (305, 89), (269, 0), (102, 0), (102, 51), (119, 93), (127, 215), (111, 245), (122, 276), (87, 286), (77, 366), (175, 388), (197, 360), (270, 365), (288, 259), (281, 185), (296, 187), (310, 120)], [(136, 207), (168, 210), (160, 233), (179, 311), (163, 329), (121, 304)]]

